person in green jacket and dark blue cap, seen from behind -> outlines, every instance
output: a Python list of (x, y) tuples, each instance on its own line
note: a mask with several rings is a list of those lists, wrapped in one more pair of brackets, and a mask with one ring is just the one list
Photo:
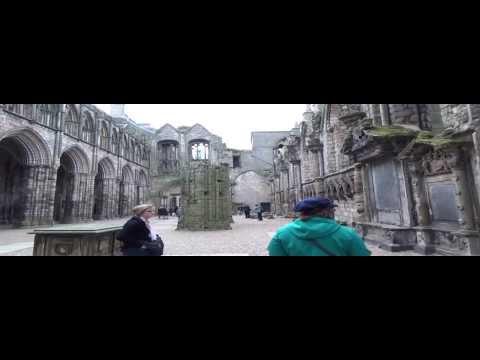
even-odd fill
[(295, 208), (300, 219), (277, 231), (268, 246), (270, 256), (370, 256), (354, 229), (336, 223), (335, 207), (326, 198), (300, 202)]

